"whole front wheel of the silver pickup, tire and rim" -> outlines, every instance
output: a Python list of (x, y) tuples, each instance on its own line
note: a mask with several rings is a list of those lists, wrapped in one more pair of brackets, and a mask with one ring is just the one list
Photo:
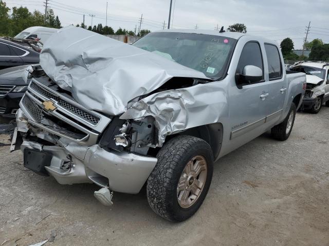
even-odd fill
[(152, 210), (170, 221), (191, 217), (203, 203), (211, 183), (213, 155), (206, 141), (177, 136), (163, 145), (147, 182)]

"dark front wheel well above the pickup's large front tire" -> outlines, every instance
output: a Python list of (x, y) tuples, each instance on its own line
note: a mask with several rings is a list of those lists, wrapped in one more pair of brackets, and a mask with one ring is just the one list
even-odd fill
[(170, 135), (166, 140), (177, 135), (189, 135), (205, 140), (211, 147), (214, 159), (220, 154), (223, 141), (223, 125), (214, 123), (205, 126), (193, 127), (178, 134)]

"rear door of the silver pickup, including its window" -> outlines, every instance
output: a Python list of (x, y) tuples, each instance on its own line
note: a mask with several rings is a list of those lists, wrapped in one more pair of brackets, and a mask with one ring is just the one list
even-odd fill
[(265, 128), (270, 128), (279, 120), (287, 95), (287, 80), (279, 49), (273, 44), (264, 44), (265, 85), (268, 96), (264, 99), (263, 110), (266, 115)]

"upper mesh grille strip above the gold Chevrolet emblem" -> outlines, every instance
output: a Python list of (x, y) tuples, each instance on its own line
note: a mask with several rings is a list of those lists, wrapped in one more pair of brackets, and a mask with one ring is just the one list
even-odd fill
[(68, 101), (65, 101), (61, 97), (46, 91), (44, 88), (42, 88), (38, 84), (34, 83), (33, 81), (31, 83), (30, 87), (34, 91), (38, 92), (39, 94), (41, 94), (49, 99), (56, 100), (59, 106), (68, 110), (69, 112), (77, 115), (78, 117), (86, 120), (87, 122), (89, 122), (90, 124), (92, 124), (94, 126), (96, 126), (98, 124), (98, 122), (100, 121), (100, 117), (93, 115), (93, 114), (87, 112), (86, 110), (81, 109), (75, 105), (72, 105), (71, 103), (69, 103)]

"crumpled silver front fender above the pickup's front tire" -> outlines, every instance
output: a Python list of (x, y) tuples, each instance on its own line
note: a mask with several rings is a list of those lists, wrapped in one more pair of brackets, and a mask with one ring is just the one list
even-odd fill
[(221, 81), (152, 94), (132, 105), (121, 119), (152, 116), (158, 129), (158, 146), (166, 136), (189, 128), (212, 124), (228, 114)]

